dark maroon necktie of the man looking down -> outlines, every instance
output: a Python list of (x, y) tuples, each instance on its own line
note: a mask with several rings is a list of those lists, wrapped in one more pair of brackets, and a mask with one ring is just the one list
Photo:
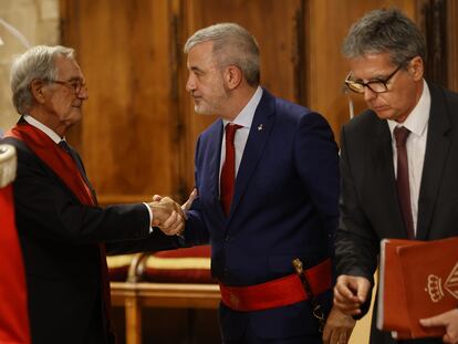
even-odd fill
[(404, 223), (407, 230), (407, 237), (409, 239), (415, 239), (406, 149), (406, 140), (409, 134), (409, 129), (404, 126), (396, 127), (394, 129), (397, 149), (397, 197), (399, 199), (400, 212), (403, 213)]

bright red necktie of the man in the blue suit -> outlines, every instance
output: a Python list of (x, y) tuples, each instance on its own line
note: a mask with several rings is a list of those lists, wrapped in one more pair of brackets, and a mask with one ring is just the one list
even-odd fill
[(236, 180), (236, 149), (233, 137), (241, 125), (228, 123), (226, 125), (226, 159), (222, 164), (220, 180), (220, 201), (226, 216), (229, 215), (233, 197), (233, 181)]

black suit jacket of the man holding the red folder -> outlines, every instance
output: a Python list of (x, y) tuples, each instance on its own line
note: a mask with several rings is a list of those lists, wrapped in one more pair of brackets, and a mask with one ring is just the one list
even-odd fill
[[(431, 110), (418, 199), (418, 240), (458, 234), (458, 94), (435, 85), (429, 85), (429, 91)], [(341, 175), (337, 273), (372, 281), (381, 239), (407, 239), (396, 194), (388, 124), (374, 112), (366, 111), (344, 125)], [(366, 309), (368, 304), (369, 300)], [(373, 326), (371, 343), (395, 342)]]

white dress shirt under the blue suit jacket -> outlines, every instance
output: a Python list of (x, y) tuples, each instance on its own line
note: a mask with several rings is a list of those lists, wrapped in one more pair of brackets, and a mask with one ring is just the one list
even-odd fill
[[(262, 88), (258, 86), (251, 100), (242, 108), (242, 111), (237, 115), (237, 117), (231, 122), (242, 127), (236, 131), (236, 136), (233, 137), (233, 146), (236, 149), (236, 177), (239, 171), (240, 161), (243, 156), (244, 146), (247, 145), (248, 134), (250, 134), (251, 123), (253, 122), (254, 112), (259, 105), (259, 102), (262, 97)], [(229, 121), (223, 119), (222, 125), (226, 128), (226, 125)], [(221, 159), (219, 161), (219, 179), (221, 179), (221, 169), (222, 164), (226, 159), (226, 131), (222, 132), (222, 144), (221, 144)]]

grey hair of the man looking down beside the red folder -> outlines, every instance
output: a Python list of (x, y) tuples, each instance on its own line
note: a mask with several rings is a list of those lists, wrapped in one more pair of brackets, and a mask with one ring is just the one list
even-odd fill
[(418, 27), (398, 9), (379, 9), (350, 28), (342, 53), (347, 59), (388, 53), (394, 64), (403, 65), (415, 56), (425, 62), (426, 43)]

